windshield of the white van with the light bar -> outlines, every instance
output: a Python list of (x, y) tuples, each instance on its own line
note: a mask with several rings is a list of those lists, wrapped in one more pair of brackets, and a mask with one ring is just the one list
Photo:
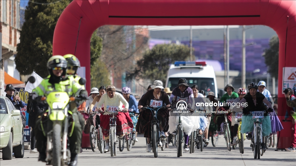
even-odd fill
[[(169, 78), (168, 87), (171, 91), (178, 85), (180, 78)], [(215, 83), (213, 78), (185, 78), (187, 84), (191, 88), (193, 85), (197, 85), (199, 90), (203, 90), (207, 96), (209, 92), (214, 92), (215, 94)]]

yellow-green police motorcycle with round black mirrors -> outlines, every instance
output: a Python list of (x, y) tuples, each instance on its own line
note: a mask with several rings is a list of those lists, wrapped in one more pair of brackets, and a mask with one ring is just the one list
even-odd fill
[[(34, 83), (35, 78), (31, 76), (29, 82)], [(84, 78), (79, 80), (81, 85), (85, 82)], [(86, 99), (69, 97), (67, 92), (53, 91), (47, 97), (37, 97), (36, 100), (48, 106), (40, 123), (41, 130), (47, 137), (46, 165), (68, 165), (71, 159), (68, 136), (72, 136), (75, 124), (72, 112), (68, 110), (69, 102), (76, 101), (81, 104), (81, 101)]]

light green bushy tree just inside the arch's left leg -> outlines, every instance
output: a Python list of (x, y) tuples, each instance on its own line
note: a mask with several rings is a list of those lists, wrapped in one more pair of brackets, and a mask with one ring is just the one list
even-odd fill
[(101, 59), (96, 59), (93, 68), (91, 69), (91, 87), (107, 87), (110, 85), (110, 73), (106, 64)]

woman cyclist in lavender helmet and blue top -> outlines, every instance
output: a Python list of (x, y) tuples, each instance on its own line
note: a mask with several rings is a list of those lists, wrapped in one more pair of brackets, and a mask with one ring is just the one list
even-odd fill
[(136, 140), (136, 125), (138, 122), (138, 118), (135, 114), (139, 113), (139, 109), (138, 109), (138, 102), (136, 100), (136, 98), (131, 95), (131, 88), (129, 87), (123, 87), (121, 90), (121, 93), (124, 97), (124, 99), (126, 99), (126, 101), (128, 102), (128, 113), (131, 117), (131, 120), (133, 121), (133, 137), (132, 140)]

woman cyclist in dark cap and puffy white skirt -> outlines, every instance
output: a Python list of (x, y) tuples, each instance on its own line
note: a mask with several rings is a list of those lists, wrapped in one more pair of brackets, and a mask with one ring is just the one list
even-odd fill
[[(191, 103), (191, 106), (189, 106), (190, 110), (194, 110), (194, 96), (192, 89), (189, 88), (187, 81), (185, 78), (180, 78), (177, 87), (173, 89), (172, 94), (170, 95), (170, 102), (172, 102), (172, 108), (177, 108), (176, 104), (178, 101), (185, 100), (186, 103)], [(189, 151), (188, 148), (188, 139), (189, 135), (192, 131), (197, 130), (197, 128), (193, 128), (196, 123), (196, 116), (190, 116), (184, 115), (182, 118), (182, 125), (183, 125), (183, 131), (184, 131), (184, 150)], [(176, 131), (176, 126), (179, 123), (179, 114), (178, 113), (171, 113), (171, 116), (169, 118), (169, 132), (173, 133)]]

